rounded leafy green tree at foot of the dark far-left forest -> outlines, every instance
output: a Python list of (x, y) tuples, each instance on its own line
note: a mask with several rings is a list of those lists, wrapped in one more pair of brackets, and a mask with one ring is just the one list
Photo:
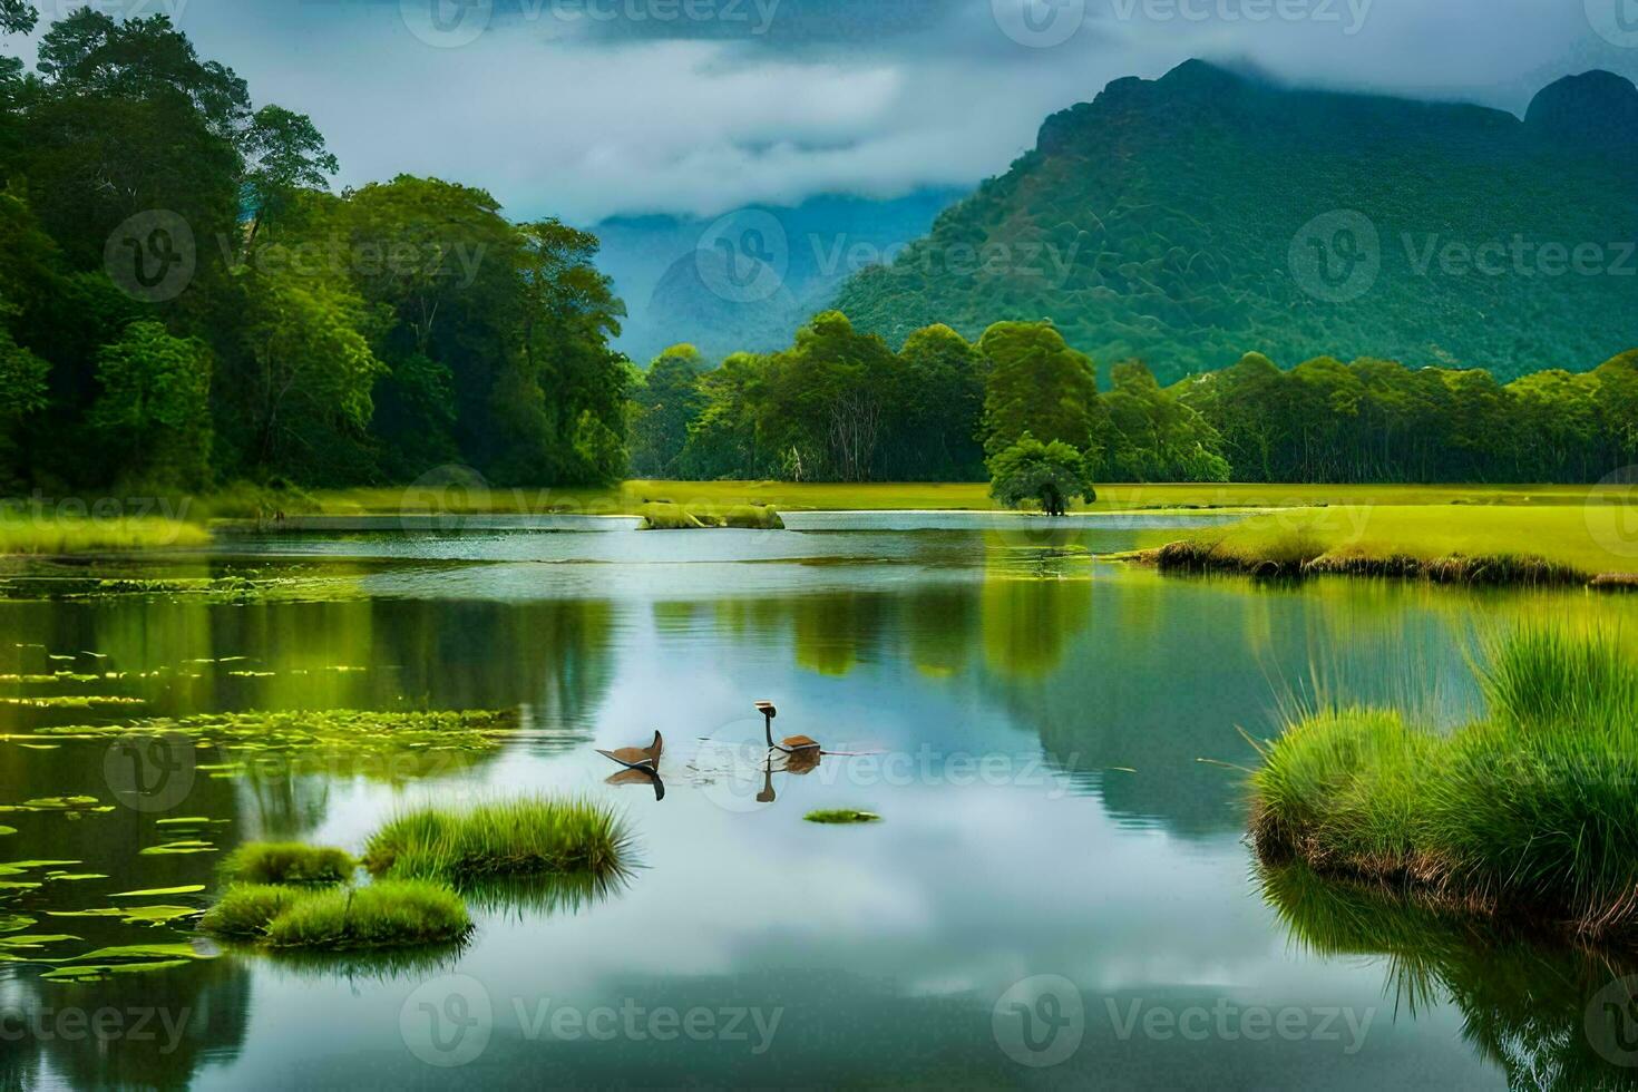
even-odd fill
[(128, 481), (198, 490), (210, 481), (210, 349), (133, 323), (97, 355), (92, 427)]

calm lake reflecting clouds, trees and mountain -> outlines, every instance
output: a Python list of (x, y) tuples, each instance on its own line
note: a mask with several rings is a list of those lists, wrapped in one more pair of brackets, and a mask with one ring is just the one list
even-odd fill
[[(1305, 702), (1459, 724), (1479, 709), (1469, 657), (1487, 634), (1566, 612), (1631, 625), (1638, 601), (1179, 580), (1097, 557), (1212, 519), (449, 526), (29, 570), (0, 599), (0, 804), (46, 804), (0, 812), (15, 828), (0, 863), (28, 863), (0, 869), (0, 1084), (1628, 1081), (1638, 1043), (1589, 1015), (1638, 963), (1263, 876), (1243, 768), (1248, 737)], [(87, 594), (102, 576), (170, 591)], [(767, 768), (757, 699), (778, 704), (776, 735), (824, 743), (816, 769)], [(518, 709), (521, 729), (413, 761), (29, 738), (292, 709)], [(663, 799), (608, 784), (596, 748), (654, 730)], [(147, 774), (164, 776), (141, 768), (152, 745)], [(485, 904), (459, 951), (290, 961), (185, 925), (51, 917), (203, 907), (208, 891), (121, 892), (208, 887), (242, 842), (355, 851), (413, 802), (529, 792), (616, 804), (639, 866), (554, 905)], [(804, 822), (822, 807), (881, 822)], [(52, 982), (49, 964), (7, 961), (8, 935), (72, 935), (49, 958), (157, 943), (203, 958)]]

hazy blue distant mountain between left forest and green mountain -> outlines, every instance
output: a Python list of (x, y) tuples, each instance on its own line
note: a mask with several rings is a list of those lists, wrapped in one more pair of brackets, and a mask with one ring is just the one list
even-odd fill
[(826, 195), (719, 218), (604, 219), (591, 228), (603, 241), (598, 267), (614, 278), (627, 309), (614, 347), (645, 365), (678, 342), (713, 359), (788, 345), (850, 273), (891, 257), (963, 195), (947, 188), (896, 200)]

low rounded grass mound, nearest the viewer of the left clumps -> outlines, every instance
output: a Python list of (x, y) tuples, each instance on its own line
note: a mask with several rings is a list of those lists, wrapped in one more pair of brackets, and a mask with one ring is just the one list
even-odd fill
[(274, 948), (393, 948), (449, 945), (472, 932), (460, 896), (421, 879), (383, 879), (369, 887), (303, 894), (267, 923)]

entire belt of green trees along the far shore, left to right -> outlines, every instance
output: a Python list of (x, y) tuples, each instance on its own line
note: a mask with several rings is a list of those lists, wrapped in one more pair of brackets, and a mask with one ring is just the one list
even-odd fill
[[(0, 0), (0, 29), (33, 21)], [(678, 345), (640, 372), (609, 347), (624, 306), (595, 236), (437, 178), (334, 193), (337, 170), (311, 120), (254, 105), (164, 16), (80, 8), (33, 70), (0, 57), (0, 491), (444, 463), (531, 485), (971, 481), (1065, 450), (1088, 481), (1589, 481), (1638, 463), (1638, 352), (1504, 385), (1528, 354), (1284, 372), (1207, 339), (1188, 359), (1220, 370), (1163, 383), (1178, 359), (1101, 357), (1099, 390), (1050, 319), (973, 341), (932, 323), (894, 349), (826, 311), (776, 352)]]

